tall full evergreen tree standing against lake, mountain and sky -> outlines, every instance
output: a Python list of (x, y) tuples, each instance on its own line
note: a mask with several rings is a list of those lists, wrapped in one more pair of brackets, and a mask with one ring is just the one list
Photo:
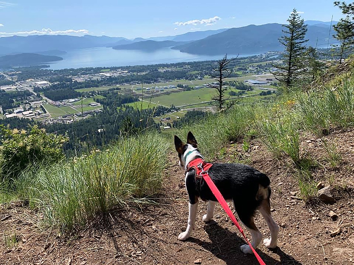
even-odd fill
[(294, 8), (287, 19), (289, 25), (282, 25), (285, 30), (285, 36), (279, 39), (279, 42), (284, 45), (285, 52), (282, 55), (281, 63), (273, 65), (278, 70), (274, 72), (275, 78), (286, 87), (290, 87), (296, 78), (302, 75), (305, 71), (303, 64), (303, 54), (306, 50), (305, 35), (307, 32), (307, 25), (304, 24), (304, 19), (300, 17)]

